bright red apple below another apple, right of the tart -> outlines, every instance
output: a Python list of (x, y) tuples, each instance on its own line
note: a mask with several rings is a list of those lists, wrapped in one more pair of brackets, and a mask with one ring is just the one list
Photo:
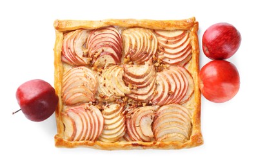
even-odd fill
[(199, 87), (206, 99), (215, 103), (226, 102), (239, 91), (239, 72), (226, 60), (212, 60), (199, 72)]

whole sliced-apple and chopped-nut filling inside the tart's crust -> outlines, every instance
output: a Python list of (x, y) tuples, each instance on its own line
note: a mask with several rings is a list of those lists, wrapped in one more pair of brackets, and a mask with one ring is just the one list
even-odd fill
[[(67, 141), (185, 143), (190, 31), (116, 28), (64, 34), (61, 119)], [(65, 70), (64, 70), (65, 71)]]

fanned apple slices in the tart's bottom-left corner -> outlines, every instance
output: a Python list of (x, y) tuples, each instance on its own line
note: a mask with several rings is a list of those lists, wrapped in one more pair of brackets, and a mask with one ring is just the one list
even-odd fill
[(68, 141), (95, 141), (103, 132), (101, 111), (90, 103), (68, 107), (62, 114), (64, 139)]

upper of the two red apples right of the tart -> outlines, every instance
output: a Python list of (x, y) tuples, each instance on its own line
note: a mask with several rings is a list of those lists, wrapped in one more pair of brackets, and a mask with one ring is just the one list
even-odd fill
[(241, 34), (231, 24), (220, 22), (210, 26), (202, 35), (202, 51), (213, 60), (230, 58), (239, 49)]

